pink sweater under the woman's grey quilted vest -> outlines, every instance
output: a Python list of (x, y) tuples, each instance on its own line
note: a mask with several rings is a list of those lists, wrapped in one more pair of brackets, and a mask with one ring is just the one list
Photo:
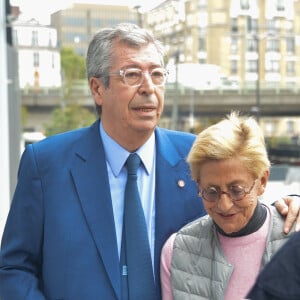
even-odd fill
[[(225, 237), (218, 234), (227, 261), (234, 270), (225, 291), (225, 300), (244, 299), (259, 273), (261, 259), (266, 247), (270, 212), (264, 225), (256, 232), (242, 237)], [(171, 288), (171, 260), (176, 234), (166, 241), (161, 255), (160, 276), (163, 300), (173, 300)]]

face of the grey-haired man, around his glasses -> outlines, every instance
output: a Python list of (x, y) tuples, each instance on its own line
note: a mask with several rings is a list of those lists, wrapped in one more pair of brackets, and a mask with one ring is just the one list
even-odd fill
[[(136, 49), (116, 43), (113, 53), (110, 73), (128, 68), (151, 72), (161, 67), (153, 44)], [(152, 134), (164, 105), (164, 86), (155, 86), (148, 73), (143, 78), (140, 86), (132, 87), (124, 83), (121, 76), (112, 75), (109, 87), (105, 89), (101, 84), (99, 95), (94, 95), (96, 103), (102, 106), (101, 121), (105, 131), (131, 151)]]

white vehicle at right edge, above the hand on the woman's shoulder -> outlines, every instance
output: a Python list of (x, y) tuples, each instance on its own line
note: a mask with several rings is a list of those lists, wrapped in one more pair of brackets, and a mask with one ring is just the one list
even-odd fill
[(262, 201), (271, 204), (279, 197), (289, 194), (300, 195), (300, 166), (287, 164), (271, 166)]

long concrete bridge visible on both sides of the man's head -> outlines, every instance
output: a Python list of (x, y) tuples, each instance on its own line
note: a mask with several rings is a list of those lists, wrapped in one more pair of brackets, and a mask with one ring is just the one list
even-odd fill
[[(259, 98), (258, 98), (259, 97)], [(259, 100), (259, 101), (258, 101)], [(22, 105), (29, 111), (50, 111), (66, 103), (94, 108), (86, 81), (75, 84), (64, 99), (62, 89), (21, 90)], [(300, 116), (300, 88), (219, 88), (193, 90), (169, 84), (165, 93), (165, 118), (186, 118), (191, 114), (219, 117), (232, 109), (259, 116)]]

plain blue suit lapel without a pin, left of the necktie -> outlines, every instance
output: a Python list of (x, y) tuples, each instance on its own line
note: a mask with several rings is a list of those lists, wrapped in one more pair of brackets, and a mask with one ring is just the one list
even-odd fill
[(82, 137), (75, 156), (71, 174), (82, 211), (117, 298), (120, 298), (119, 256), (99, 122)]

